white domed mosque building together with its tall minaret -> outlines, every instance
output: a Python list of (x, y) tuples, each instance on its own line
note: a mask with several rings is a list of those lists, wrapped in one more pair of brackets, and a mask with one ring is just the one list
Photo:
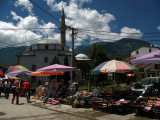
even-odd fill
[[(46, 39), (31, 46), (25, 47), (25, 52), (21, 55), (18, 55), (18, 64), (28, 68), (31, 71), (35, 71), (39, 68), (50, 65), (55, 56), (59, 59), (60, 64), (64, 64), (65, 57), (68, 58), (68, 61), (71, 61), (71, 52), (69, 51), (69, 47), (66, 46), (66, 25), (63, 9), (61, 14), (61, 25), (59, 29), (61, 32), (61, 42), (55, 42), (55, 40)], [(71, 63), (68, 62), (68, 65), (70, 64)]]

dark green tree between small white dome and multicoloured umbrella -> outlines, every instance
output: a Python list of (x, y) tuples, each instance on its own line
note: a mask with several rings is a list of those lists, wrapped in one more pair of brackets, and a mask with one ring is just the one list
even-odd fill
[(98, 66), (102, 62), (109, 60), (109, 57), (107, 56), (106, 51), (101, 44), (93, 45), (90, 50), (89, 57), (93, 60), (93, 68)]

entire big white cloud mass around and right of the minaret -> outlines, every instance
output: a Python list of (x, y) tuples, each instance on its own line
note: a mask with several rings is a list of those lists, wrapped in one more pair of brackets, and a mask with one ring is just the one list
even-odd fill
[[(116, 20), (114, 15), (107, 13), (106, 11), (99, 13), (97, 10), (94, 9), (82, 8), (82, 5), (84, 3), (92, 2), (92, 0), (70, 0), (69, 4), (63, 1), (59, 3), (55, 0), (46, 1), (52, 11), (61, 11), (63, 6), (67, 26), (79, 28), (78, 35), (81, 38), (76, 38), (77, 43), (75, 44), (75, 46), (80, 45), (80, 42), (84, 41), (83, 39), (90, 39), (90, 43), (100, 41), (114, 42), (121, 38), (141, 38), (143, 35), (141, 34), (140, 30), (128, 27), (122, 28), (121, 33), (112, 33), (109, 23), (113, 20)], [(80, 29), (105, 32), (82, 32)], [(96, 38), (99, 38), (99, 40)], [(71, 38), (67, 37), (67, 40), (70, 41)]]

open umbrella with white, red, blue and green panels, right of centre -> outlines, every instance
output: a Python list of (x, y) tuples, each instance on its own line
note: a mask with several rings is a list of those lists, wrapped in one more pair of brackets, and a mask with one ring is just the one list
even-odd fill
[(123, 73), (123, 72), (132, 72), (137, 71), (138, 69), (132, 66), (129, 63), (118, 61), (118, 60), (110, 60), (101, 63), (96, 68), (92, 70), (93, 74), (101, 74), (101, 73)]

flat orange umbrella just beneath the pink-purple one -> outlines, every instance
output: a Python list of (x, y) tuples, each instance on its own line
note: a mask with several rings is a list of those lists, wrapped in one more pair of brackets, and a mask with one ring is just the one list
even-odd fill
[(62, 71), (43, 71), (43, 72), (32, 72), (30, 76), (51, 76), (51, 75), (64, 75)]

